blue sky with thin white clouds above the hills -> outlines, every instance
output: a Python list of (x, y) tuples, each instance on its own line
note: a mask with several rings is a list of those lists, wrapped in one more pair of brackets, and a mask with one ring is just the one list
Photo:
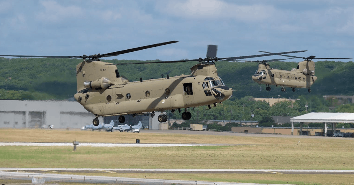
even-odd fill
[[(81, 56), (179, 41), (104, 59), (194, 59), (208, 44), (218, 45), (218, 57), (354, 57), (352, 0), (0, 0), (0, 26), (0, 55)], [(279, 56), (255, 60), (272, 58)]]

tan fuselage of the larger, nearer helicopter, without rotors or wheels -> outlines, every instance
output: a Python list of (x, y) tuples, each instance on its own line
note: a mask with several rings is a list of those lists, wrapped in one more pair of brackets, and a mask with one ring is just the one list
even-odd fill
[[(101, 63), (101, 66), (105, 63), (95, 62)], [(79, 64), (79, 66), (83, 65)], [(116, 67), (110, 66), (110, 68), (104, 69), (102, 75), (107, 74), (106, 70), (111, 70), (110, 73), (112, 71), (114, 73)], [(101, 71), (101, 69), (99, 70)], [(81, 89), (74, 97), (95, 116), (134, 115), (152, 111), (162, 112), (202, 105), (216, 105), (231, 97), (232, 89), (225, 86), (217, 76), (215, 64), (197, 64), (191, 70), (190, 75), (133, 82), (128, 82), (116, 75), (110, 75), (110, 77), (105, 77), (105, 81), (109, 84), (107, 88), (104, 85), (94, 86), (95, 83), (99, 84), (99, 80), (98, 82), (97, 80), (91, 81), (91, 88), (89, 85), (78, 84), (78, 90), (82, 87), (89, 88)], [(211, 74), (208, 75), (210, 71)], [(78, 76), (80, 78), (79, 73)]]

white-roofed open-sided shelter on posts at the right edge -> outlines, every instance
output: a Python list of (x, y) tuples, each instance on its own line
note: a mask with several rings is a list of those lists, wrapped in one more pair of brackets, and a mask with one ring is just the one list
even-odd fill
[(342, 112), (311, 112), (301, 116), (290, 118), (291, 135), (294, 134), (294, 122), (300, 122), (300, 135), (302, 135), (302, 124), (323, 123), (324, 136), (327, 136), (327, 124), (332, 124), (332, 130), (336, 130), (337, 123), (354, 123), (354, 113)]

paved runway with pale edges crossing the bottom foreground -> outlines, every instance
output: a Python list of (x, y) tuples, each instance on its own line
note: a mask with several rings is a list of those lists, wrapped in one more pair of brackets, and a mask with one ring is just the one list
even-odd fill
[(67, 175), (75, 173), (278, 173), (278, 174), (354, 174), (354, 170), (293, 170), (293, 169), (134, 169), (134, 168), (0, 168), (1, 179), (31, 180), (44, 177), (45, 183), (119, 183), (139, 185), (201, 184), (201, 185), (265, 185), (253, 183), (208, 182), (193, 180), (167, 180), (148, 178), (123, 178), (92, 175)]

